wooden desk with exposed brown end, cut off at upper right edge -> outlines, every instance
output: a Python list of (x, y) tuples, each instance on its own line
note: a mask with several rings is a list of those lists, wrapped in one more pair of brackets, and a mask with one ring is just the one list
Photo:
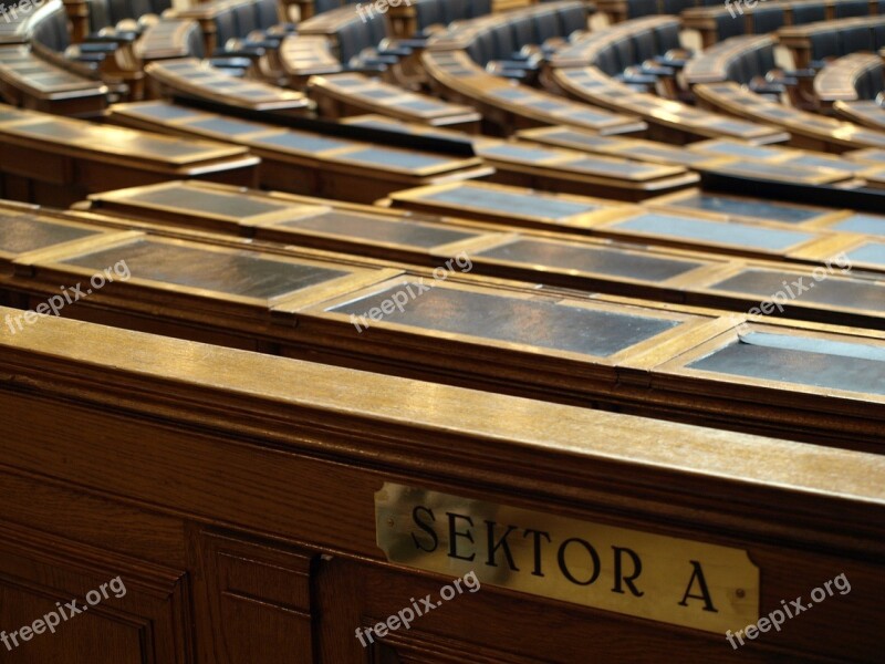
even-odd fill
[(856, 51), (875, 52), (885, 46), (885, 15), (781, 28), (778, 41), (790, 49), (799, 69)]

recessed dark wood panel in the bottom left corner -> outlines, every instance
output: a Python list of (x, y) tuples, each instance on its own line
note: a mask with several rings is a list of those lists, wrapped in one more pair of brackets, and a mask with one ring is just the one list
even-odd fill
[[(46, 634), (46, 627), (37, 626), (28, 641), (19, 642), (18, 647), (7, 646), (11, 654), (4, 654), (4, 661), (192, 661), (189, 593), (181, 571), (82, 543), (72, 547), (21, 527), (3, 525), (0, 529), (0, 621), (11, 627), (10, 632), (43, 616), (46, 625), (59, 622), (54, 633)], [(75, 604), (69, 604), (71, 601)], [(49, 618), (52, 612), (55, 616)], [(21, 639), (27, 636), (22, 629), (18, 632)]]

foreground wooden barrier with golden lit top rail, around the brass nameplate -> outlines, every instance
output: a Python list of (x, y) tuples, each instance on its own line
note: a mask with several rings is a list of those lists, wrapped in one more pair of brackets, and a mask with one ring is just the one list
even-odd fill
[[(780, 632), (760, 634), (740, 655), (878, 661), (881, 456), (498, 395), (480, 400), (469, 391), (54, 319), (29, 334), (0, 336), (0, 360), (10, 376), (0, 385), (4, 466), (186, 516), (192, 546), (187, 578), (83, 546), (71, 556), (59, 538), (21, 532), (3, 538), (3, 550), (17, 553), (0, 560), (24, 570), (17, 578), (37, 578), (34, 585), (51, 579), (65, 599), (82, 596), (93, 575), (101, 583), (123, 570), (132, 603), (121, 612), (129, 622), (117, 622), (138, 626), (154, 616), (154, 641), (146, 643), (155, 647), (167, 643), (163, 635), (188, 633), (179, 627), (192, 620), (197, 643), (211, 653), (200, 662), (299, 661), (303, 651), (288, 649), (304, 634), (295, 625), (310, 601), (316, 641), (308, 661), (565, 663), (593, 649), (612, 662), (656, 662), (666, 650), (700, 663), (733, 653), (725, 635), (530, 598), (498, 582), (421, 615), (383, 647), (373, 644), (381, 652), (363, 650), (357, 627), (409, 606), (412, 598), (433, 599), (451, 582), (391, 566), (375, 546), (373, 492), (405, 480), (468, 501), (745, 549), (761, 570), (763, 614), (793, 598), (808, 602), (812, 589), (845, 574), (848, 592), (814, 604), (816, 612), (796, 615)], [(107, 384), (117, 387), (112, 393)], [(418, 396), (403, 400), (404, 393)], [(51, 417), (63, 404), (64, 421)], [(531, 562), (523, 564), (529, 573)], [(65, 581), (77, 574), (79, 587)], [(230, 601), (221, 600), (218, 618), (202, 610), (225, 594)], [(192, 603), (175, 603), (191, 596)], [(105, 609), (116, 624), (111, 601)], [(210, 639), (221, 630), (226, 650), (217, 654)], [(256, 643), (264, 630), (281, 650)], [(31, 645), (38, 643), (61, 639)], [(117, 662), (138, 654), (108, 651), (115, 643), (94, 652)], [(194, 661), (198, 651), (158, 650), (144, 661)]]

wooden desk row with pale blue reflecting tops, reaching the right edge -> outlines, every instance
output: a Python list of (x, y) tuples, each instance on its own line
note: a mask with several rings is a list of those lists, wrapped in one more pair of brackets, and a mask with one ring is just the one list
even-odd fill
[[(843, 235), (881, 235), (882, 218), (873, 217), (871, 220), (868, 215), (857, 215), (856, 218), (851, 215), (845, 219), (844, 214), (820, 208), (795, 208), (686, 191), (629, 211), (622, 209), (617, 214), (594, 216), (589, 220), (581, 212), (596, 210), (598, 203), (594, 199), (579, 198), (576, 203), (563, 204), (549, 194), (538, 191), (534, 194), (538, 200), (532, 208), (525, 205), (520, 210), (513, 209), (512, 201), (507, 205), (508, 196), (502, 191), (488, 193), (478, 183), (424, 187), (398, 191), (391, 200), (396, 207), (419, 212), (483, 219), (507, 227), (520, 226), (632, 243), (818, 266), (823, 266), (842, 251), (852, 251), (857, 243), (878, 246), (872, 248), (872, 255), (882, 250), (878, 238)], [(501, 198), (504, 200), (499, 201)], [(845, 226), (818, 228), (821, 224), (835, 220), (844, 220)], [(865, 252), (872, 258), (868, 250)], [(863, 268), (881, 271), (881, 253), (873, 263), (865, 263)]]

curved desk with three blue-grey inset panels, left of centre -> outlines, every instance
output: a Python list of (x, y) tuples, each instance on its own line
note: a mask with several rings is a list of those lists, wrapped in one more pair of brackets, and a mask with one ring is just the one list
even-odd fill
[(261, 157), (262, 187), (371, 203), (408, 186), (485, 177), (475, 157), (452, 157), (247, 122), (164, 102), (115, 104), (117, 124), (237, 144)]

